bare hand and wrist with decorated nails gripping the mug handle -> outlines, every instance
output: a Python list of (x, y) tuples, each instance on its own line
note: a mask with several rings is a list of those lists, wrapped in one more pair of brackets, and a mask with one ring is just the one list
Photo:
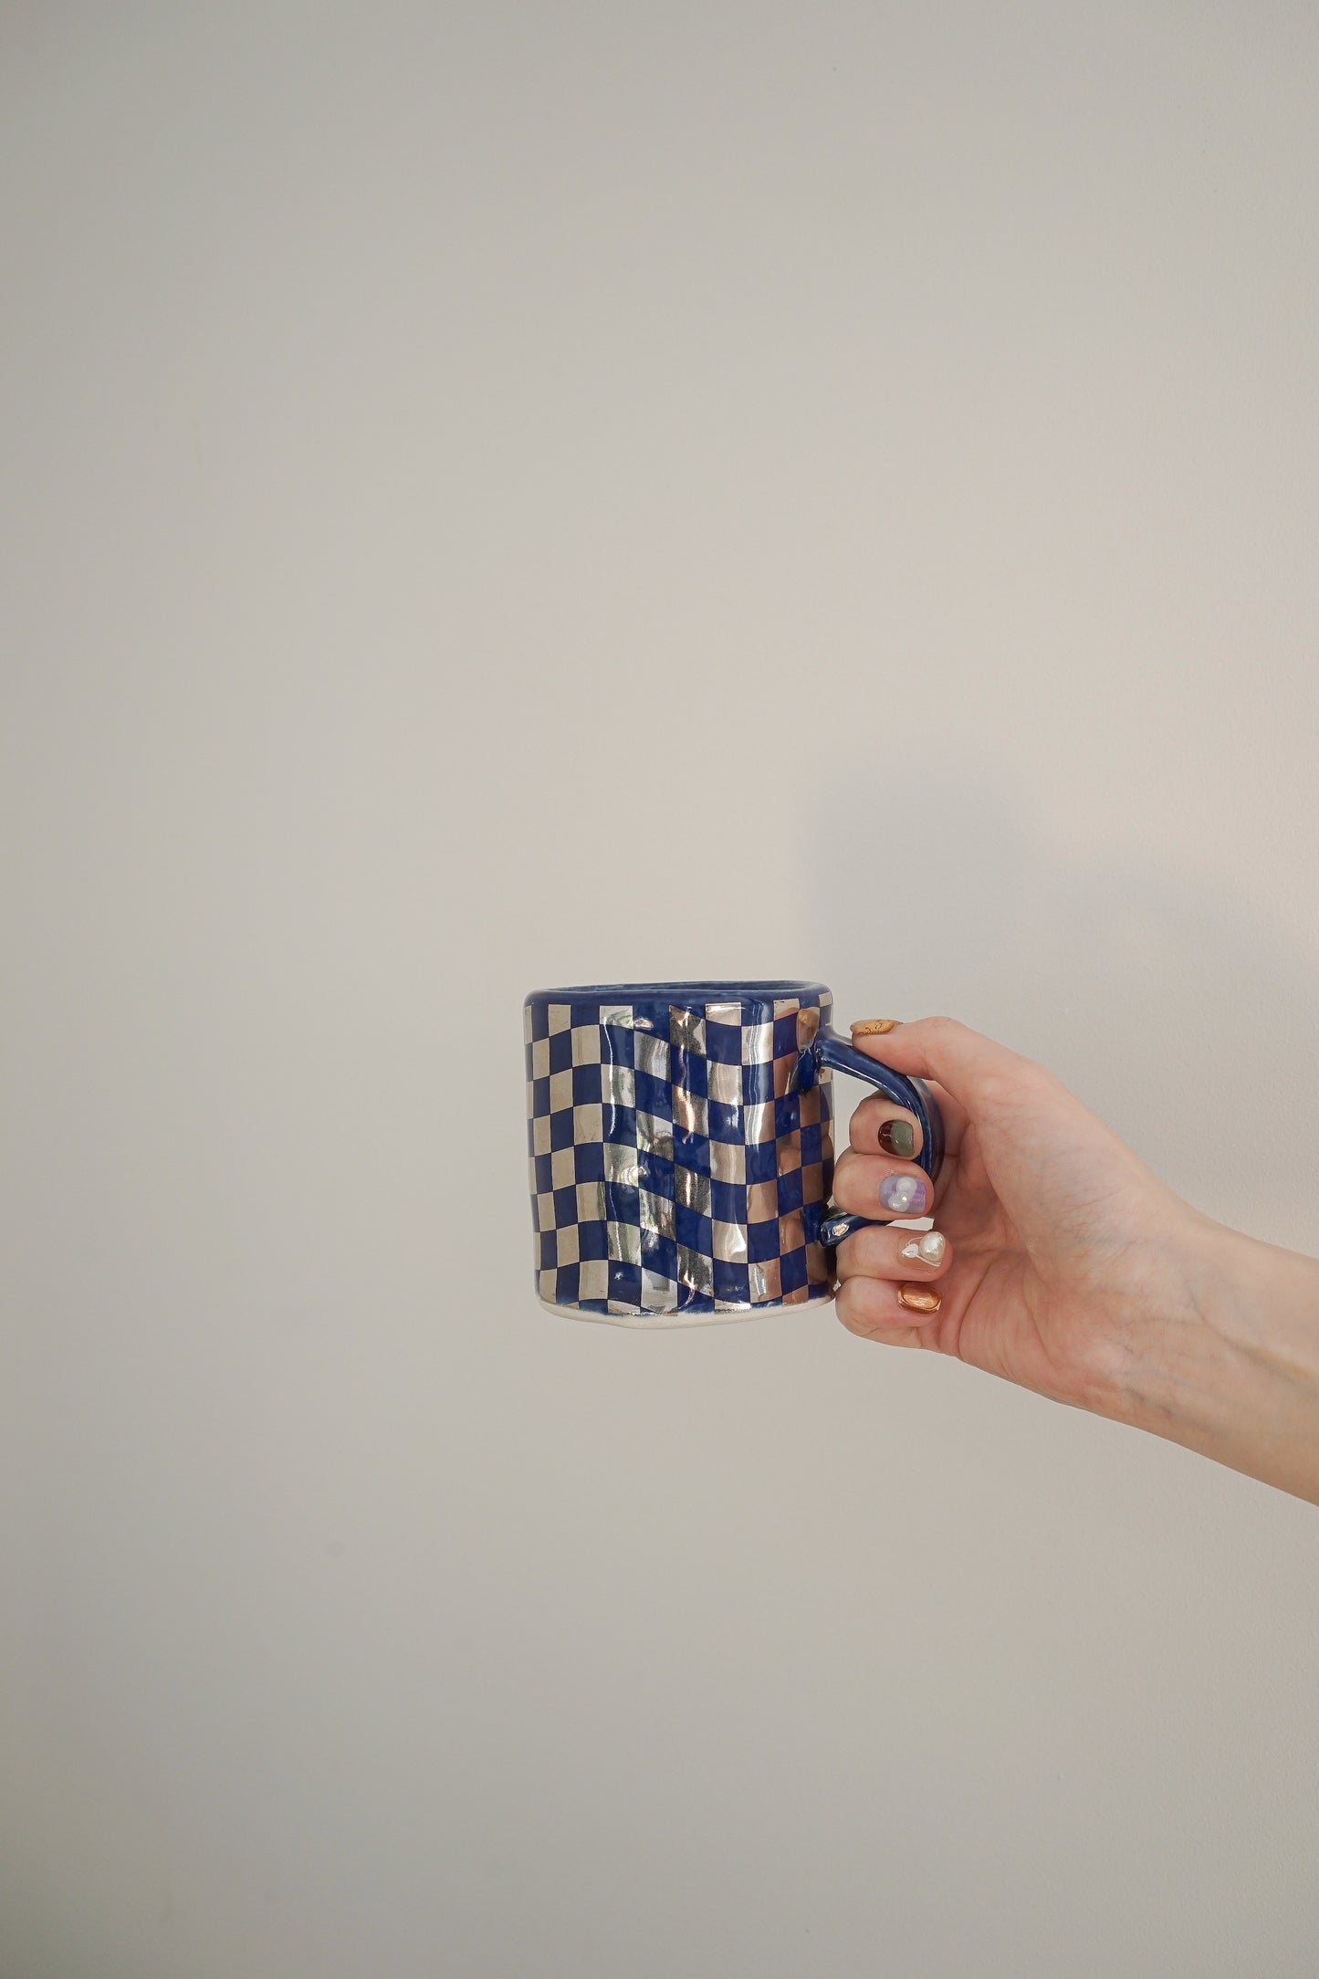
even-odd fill
[[(949, 1354), (1319, 1504), (1319, 1261), (1214, 1223), (1042, 1065), (951, 1017), (856, 1045), (939, 1100), (947, 1154), (925, 1215), (947, 1247), (925, 1265), (902, 1257), (910, 1229), (848, 1237), (848, 1332)], [(856, 1108), (835, 1197), (858, 1215), (886, 1215), (886, 1176), (923, 1176), (880, 1150), (886, 1120), (910, 1120), (920, 1152), (914, 1114), (878, 1094)], [(931, 1284), (939, 1310), (906, 1310), (904, 1282)]]

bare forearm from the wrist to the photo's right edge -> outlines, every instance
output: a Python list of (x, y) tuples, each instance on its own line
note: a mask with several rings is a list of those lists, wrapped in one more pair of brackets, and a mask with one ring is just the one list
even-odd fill
[(1125, 1421), (1319, 1504), (1319, 1261), (1198, 1219), (1188, 1310), (1127, 1369)]

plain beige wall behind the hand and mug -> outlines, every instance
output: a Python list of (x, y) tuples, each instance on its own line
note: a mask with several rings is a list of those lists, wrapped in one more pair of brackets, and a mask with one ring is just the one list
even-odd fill
[(532, 1298), (534, 982), (1319, 1251), (1311, 8), (0, 18), (6, 1979), (1289, 1979), (1319, 1516)]

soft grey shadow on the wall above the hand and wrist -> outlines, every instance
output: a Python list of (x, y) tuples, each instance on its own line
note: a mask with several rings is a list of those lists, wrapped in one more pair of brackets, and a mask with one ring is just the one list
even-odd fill
[(840, 1023), (961, 1017), (1052, 1067), (1208, 1215), (1319, 1253), (1319, 968), (1254, 900), (1056, 849), (983, 774), (920, 819), (844, 798), (833, 843), (870, 873), (856, 904), (809, 889), (803, 954), (829, 958)]

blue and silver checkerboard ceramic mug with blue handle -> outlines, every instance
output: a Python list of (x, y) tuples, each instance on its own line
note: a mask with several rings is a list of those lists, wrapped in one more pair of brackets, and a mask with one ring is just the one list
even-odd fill
[(526, 1112), (542, 1304), (621, 1326), (749, 1318), (833, 1298), (831, 1073), (922, 1124), (920, 1079), (838, 1037), (823, 984), (591, 984), (524, 1003)]

